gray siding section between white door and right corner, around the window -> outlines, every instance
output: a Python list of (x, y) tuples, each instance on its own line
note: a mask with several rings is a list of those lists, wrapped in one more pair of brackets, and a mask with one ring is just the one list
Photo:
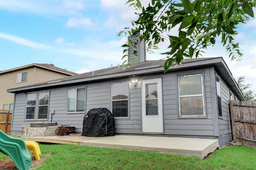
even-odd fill
[[(203, 73), (206, 118), (179, 118), (177, 75)], [(210, 68), (163, 75), (163, 109), (165, 134), (214, 135)]]

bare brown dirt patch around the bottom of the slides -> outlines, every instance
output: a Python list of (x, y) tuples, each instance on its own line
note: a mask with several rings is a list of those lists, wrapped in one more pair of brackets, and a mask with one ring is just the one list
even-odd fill
[[(31, 167), (31, 169), (35, 169), (39, 166), (41, 166), (44, 163), (45, 158), (49, 157), (50, 154), (44, 155), (43, 157), (41, 156), (40, 160), (36, 160), (34, 155), (31, 155), (31, 159), (32, 159), (32, 163), (33, 166)], [(4, 159), (4, 160), (0, 160), (0, 169), (1, 170), (19, 170), (14, 163), (12, 162), (12, 160), (10, 158)]]

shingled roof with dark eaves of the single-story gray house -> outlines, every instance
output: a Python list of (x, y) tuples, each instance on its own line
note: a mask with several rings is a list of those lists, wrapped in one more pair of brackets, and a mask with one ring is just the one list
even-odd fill
[[(92, 81), (103, 81), (109, 79), (116, 79), (122, 77), (129, 77), (131, 75), (143, 75), (143, 74), (151, 74), (151, 73), (163, 73), (164, 72), (164, 63), (165, 60), (151, 60), (146, 62), (141, 62), (138, 64), (132, 64), (125, 69), (122, 66), (114, 66), (106, 69), (95, 70), (92, 72), (86, 72), (83, 74), (73, 75), (67, 78), (56, 79), (46, 82), (41, 82), (37, 84), (31, 84), (26, 87), (9, 89), (8, 92), (21, 92), (26, 90), (39, 90), (45, 88), (54, 88), (59, 86), (69, 86), (70, 84), (77, 83), (87, 83)], [(169, 71), (182, 70), (182, 69), (193, 69), (196, 67), (203, 66), (214, 66), (225, 78), (226, 83), (229, 84), (231, 89), (234, 90), (235, 94), (238, 96), (240, 100), (243, 100), (244, 97), (242, 95), (241, 90), (238, 88), (233, 75), (228, 69), (225, 61), (222, 57), (211, 57), (211, 58), (193, 58), (183, 60), (181, 65), (171, 65)]]

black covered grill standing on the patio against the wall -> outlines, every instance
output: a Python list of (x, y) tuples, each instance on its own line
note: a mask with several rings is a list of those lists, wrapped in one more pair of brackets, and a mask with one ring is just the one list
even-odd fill
[(82, 135), (85, 137), (114, 136), (114, 115), (107, 108), (91, 109), (84, 116)]

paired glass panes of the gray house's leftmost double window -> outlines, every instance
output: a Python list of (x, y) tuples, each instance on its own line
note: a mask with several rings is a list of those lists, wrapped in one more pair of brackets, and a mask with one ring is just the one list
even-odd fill
[(49, 91), (27, 95), (26, 120), (46, 120), (48, 117)]

